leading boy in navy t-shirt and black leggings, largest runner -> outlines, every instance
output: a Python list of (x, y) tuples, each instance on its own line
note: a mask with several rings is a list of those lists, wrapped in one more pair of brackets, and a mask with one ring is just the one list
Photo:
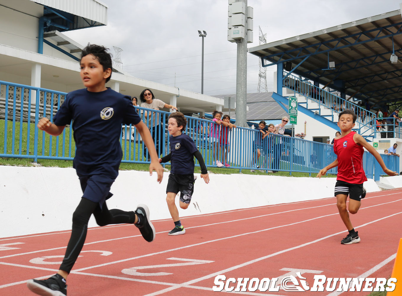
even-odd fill
[(71, 237), (59, 271), (49, 279), (30, 279), (27, 283), (32, 292), (43, 296), (67, 295), (66, 279), (84, 245), (92, 214), (99, 226), (130, 223), (139, 228), (148, 242), (155, 238), (155, 229), (146, 205), (138, 205), (135, 211), (129, 212), (109, 210), (106, 205), (106, 200), (112, 196), (110, 187), (119, 174), (122, 124), (135, 125), (151, 154), (150, 174), (155, 170), (158, 182), (162, 181), (163, 168), (158, 163), (150, 131), (135, 112), (131, 97), (105, 87), (112, 71), (111, 56), (106, 48), (88, 44), (82, 50), (80, 68), (86, 88), (67, 94), (53, 123), (47, 118), (42, 118), (38, 123), (39, 129), (58, 136), (73, 120), (76, 142), (73, 167), (84, 193), (73, 213)]

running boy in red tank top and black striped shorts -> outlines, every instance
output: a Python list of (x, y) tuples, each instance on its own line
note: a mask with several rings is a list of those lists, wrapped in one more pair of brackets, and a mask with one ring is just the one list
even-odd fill
[[(366, 140), (356, 132), (352, 131), (355, 126), (356, 114), (351, 110), (345, 110), (339, 114), (338, 126), (341, 135), (334, 139), (334, 152), (338, 158), (318, 173), (321, 178), (327, 170), (338, 166), (338, 174), (335, 184), (336, 206), (338, 207), (340, 218), (345, 224), (349, 234), (341, 240), (341, 244), (354, 244), (360, 242), (359, 234), (352, 226), (349, 213), (356, 214), (361, 205), (361, 199), (366, 195), (363, 182), (367, 181), (362, 165), (364, 149), (367, 149), (377, 159), (381, 168), (389, 176), (398, 175), (389, 170), (382, 160), (379, 153), (366, 142)], [(349, 195), (349, 213), (346, 209), (346, 200)]]

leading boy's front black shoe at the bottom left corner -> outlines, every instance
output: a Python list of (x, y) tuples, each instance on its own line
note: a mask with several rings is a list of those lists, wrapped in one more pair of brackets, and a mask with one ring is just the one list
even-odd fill
[(66, 280), (57, 273), (45, 280), (29, 279), (27, 286), (32, 292), (42, 296), (67, 295)]

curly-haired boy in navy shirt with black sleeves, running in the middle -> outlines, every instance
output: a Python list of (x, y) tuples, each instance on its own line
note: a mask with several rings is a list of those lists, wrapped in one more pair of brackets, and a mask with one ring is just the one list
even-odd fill
[(176, 194), (180, 191), (180, 207), (189, 207), (191, 196), (194, 192), (194, 156), (201, 167), (201, 178), (209, 183), (209, 176), (204, 159), (194, 144), (194, 141), (183, 130), (186, 129), (187, 119), (181, 112), (174, 112), (168, 117), (168, 130), (170, 153), (159, 159), (159, 162), (171, 163), (168, 186), (166, 187), (166, 202), (170, 215), (174, 221), (174, 228), (168, 235), (185, 234), (186, 230), (181, 225), (178, 210), (174, 204)]

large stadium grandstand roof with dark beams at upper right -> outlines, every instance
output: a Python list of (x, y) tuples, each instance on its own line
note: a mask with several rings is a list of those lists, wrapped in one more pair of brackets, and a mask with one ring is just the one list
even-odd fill
[[(291, 62), (291, 72), (371, 103), (400, 100), (402, 56), (400, 10), (322, 29), (248, 49), (263, 66)], [(329, 69), (328, 62), (335, 62)]]

